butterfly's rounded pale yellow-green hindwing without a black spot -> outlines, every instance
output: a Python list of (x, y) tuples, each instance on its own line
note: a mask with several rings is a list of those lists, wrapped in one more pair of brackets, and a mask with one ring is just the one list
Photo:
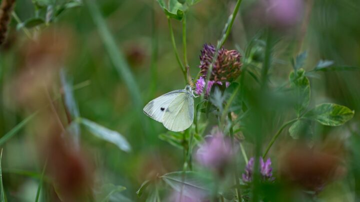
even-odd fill
[(194, 118), (193, 97), (188, 93), (177, 96), (168, 106), (162, 124), (170, 131), (178, 132), (191, 126)]

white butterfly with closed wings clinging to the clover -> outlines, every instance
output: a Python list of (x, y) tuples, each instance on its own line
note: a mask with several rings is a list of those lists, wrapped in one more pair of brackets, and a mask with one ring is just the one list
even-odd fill
[(187, 85), (184, 90), (174, 90), (151, 100), (143, 112), (170, 131), (183, 131), (191, 126), (194, 118), (194, 97), (191, 86)]

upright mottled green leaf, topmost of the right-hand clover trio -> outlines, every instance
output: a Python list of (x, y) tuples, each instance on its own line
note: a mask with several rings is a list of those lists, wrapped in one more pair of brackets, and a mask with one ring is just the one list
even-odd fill
[(296, 72), (292, 71), (289, 76), (290, 87), (292, 88), (295, 97), (295, 111), (297, 117), (305, 110), (310, 103), (310, 82), (305, 76), (303, 69), (298, 69)]

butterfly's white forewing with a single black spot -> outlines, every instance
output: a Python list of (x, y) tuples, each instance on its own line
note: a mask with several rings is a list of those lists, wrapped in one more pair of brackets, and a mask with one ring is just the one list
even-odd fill
[(170, 103), (178, 96), (185, 95), (185, 90), (174, 90), (151, 100), (143, 108), (143, 112), (152, 119), (161, 122)]

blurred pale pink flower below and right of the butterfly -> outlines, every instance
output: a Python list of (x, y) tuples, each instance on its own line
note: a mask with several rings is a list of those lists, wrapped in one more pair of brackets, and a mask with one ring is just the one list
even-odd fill
[(214, 128), (211, 135), (196, 152), (198, 163), (211, 169), (221, 169), (232, 156), (230, 141)]

